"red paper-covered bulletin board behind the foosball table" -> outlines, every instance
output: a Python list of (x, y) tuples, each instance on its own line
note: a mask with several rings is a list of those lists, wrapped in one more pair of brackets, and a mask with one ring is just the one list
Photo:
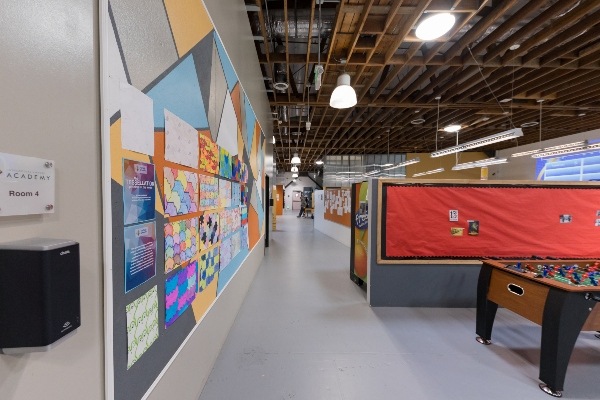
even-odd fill
[[(458, 211), (458, 221), (450, 221), (450, 210)], [(478, 221), (477, 233), (469, 229), (468, 221)], [(597, 258), (597, 225), (597, 185), (384, 183), (380, 254), (384, 260), (532, 255)]]

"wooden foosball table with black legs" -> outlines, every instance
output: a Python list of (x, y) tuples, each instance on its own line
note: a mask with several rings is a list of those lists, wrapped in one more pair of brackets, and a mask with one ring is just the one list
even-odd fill
[(561, 397), (579, 333), (600, 331), (599, 283), (597, 260), (484, 260), (477, 285), (477, 341), (491, 344), (498, 306), (541, 325), (540, 388)]

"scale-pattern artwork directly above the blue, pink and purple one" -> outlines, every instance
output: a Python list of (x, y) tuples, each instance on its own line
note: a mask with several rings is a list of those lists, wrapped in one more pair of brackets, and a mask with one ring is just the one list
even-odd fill
[(197, 218), (165, 224), (165, 274), (190, 261), (197, 253)]

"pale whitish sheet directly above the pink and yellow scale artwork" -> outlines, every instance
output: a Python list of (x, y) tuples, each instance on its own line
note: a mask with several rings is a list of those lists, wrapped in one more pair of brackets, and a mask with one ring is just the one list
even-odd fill
[(198, 168), (198, 131), (166, 109), (165, 160)]

